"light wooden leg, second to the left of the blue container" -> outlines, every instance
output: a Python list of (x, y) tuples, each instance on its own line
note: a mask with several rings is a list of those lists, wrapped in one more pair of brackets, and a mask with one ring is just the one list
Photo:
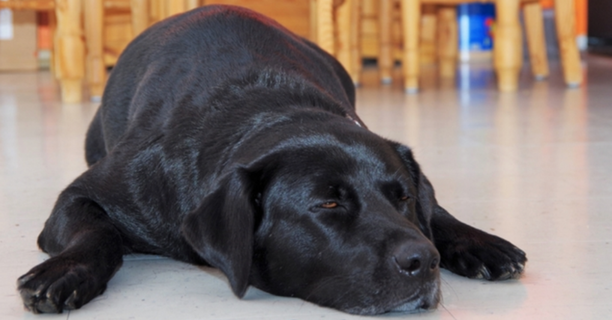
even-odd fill
[(404, 37), (401, 69), (404, 75), (404, 90), (407, 93), (419, 91), (420, 15), (420, 0), (401, 1), (401, 26)]

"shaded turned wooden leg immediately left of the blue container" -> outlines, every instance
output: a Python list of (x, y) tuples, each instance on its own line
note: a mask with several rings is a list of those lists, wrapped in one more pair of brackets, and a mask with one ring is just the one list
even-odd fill
[(438, 9), (438, 65), (442, 78), (455, 78), (459, 35), (457, 9), (444, 6)]

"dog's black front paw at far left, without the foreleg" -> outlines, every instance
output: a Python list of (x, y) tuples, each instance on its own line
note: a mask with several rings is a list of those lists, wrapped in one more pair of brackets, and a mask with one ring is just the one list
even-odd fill
[(56, 256), (17, 280), (23, 304), (33, 313), (61, 313), (82, 307), (106, 289), (92, 267)]

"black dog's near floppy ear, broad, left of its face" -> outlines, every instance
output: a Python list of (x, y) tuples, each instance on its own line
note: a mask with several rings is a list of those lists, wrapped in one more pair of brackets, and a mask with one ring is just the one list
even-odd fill
[(225, 273), (238, 297), (247, 291), (253, 259), (255, 207), (251, 195), (248, 175), (236, 168), (182, 223), (187, 242)]

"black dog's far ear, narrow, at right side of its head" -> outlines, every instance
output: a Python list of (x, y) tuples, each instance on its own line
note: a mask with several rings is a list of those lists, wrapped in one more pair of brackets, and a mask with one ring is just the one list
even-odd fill
[(400, 155), (401, 162), (403, 162), (406, 169), (408, 169), (412, 181), (417, 185), (418, 195), (416, 210), (419, 220), (419, 229), (426, 237), (433, 240), (433, 234), (431, 233), (431, 216), (433, 215), (434, 208), (438, 205), (433, 187), (427, 177), (422, 173), (419, 164), (414, 160), (410, 148), (394, 141), (390, 141), (390, 144)]

